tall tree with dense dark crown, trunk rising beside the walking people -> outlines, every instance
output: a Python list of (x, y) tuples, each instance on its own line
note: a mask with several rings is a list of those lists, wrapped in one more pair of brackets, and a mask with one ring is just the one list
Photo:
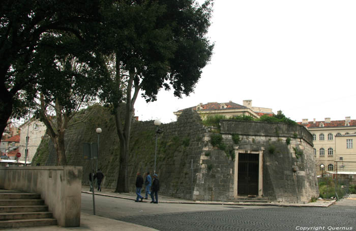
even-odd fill
[(112, 105), (120, 138), (115, 192), (129, 191), (130, 130), (139, 92), (146, 101), (156, 100), (161, 88), (173, 88), (177, 97), (193, 92), (212, 55), (213, 44), (206, 38), (211, 13), (210, 0), (201, 6), (193, 0), (118, 1), (106, 12), (105, 25), (111, 30), (102, 32), (107, 33), (106, 52), (115, 58), (115, 70), (103, 99)]

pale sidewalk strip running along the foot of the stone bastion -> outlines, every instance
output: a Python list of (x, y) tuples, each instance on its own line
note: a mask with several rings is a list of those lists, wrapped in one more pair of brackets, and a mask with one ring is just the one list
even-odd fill
[[(82, 193), (90, 193), (89, 186), (82, 185), (81, 192)], [(116, 193), (113, 192), (114, 189), (102, 188), (102, 191), (98, 192), (95, 189), (95, 195), (101, 196), (110, 196), (121, 199), (135, 200), (136, 193)], [(149, 198), (150, 200), (150, 198)], [(187, 200), (175, 197), (169, 197), (164, 195), (159, 195), (159, 203), (170, 203), (170, 204), (202, 204), (202, 205), (240, 205), (240, 206), (281, 206), (281, 207), (329, 207), (335, 203), (336, 200), (317, 200), (313, 203), (308, 204), (294, 204), (294, 203), (280, 203), (276, 201), (271, 201), (268, 203), (265, 202), (238, 202), (238, 201), (199, 201), (199, 200)]]

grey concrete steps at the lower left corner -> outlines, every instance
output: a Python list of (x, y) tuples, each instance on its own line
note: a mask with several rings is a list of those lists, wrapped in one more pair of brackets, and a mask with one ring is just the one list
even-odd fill
[(56, 224), (40, 194), (0, 190), (0, 228)]

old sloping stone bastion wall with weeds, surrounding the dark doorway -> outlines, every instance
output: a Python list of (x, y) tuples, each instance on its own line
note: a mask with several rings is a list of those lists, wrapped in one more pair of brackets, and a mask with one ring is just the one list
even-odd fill
[[(104, 107), (90, 110), (95, 110), (94, 117), (66, 131), (68, 164), (83, 167), (82, 182), (87, 185), (96, 162), (83, 159), (82, 143), (96, 142), (95, 129), (101, 127), (98, 167), (105, 175), (103, 187), (115, 188), (120, 141), (113, 116)], [(219, 130), (204, 127), (198, 113), (188, 109), (176, 122), (160, 128), (164, 132), (158, 138), (156, 172), (161, 194), (194, 200), (234, 199), (235, 156), (239, 150), (258, 149), (263, 150), (263, 196), (291, 203), (318, 196), (312, 137), (302, 126), (222, 120)], [(214, 134), (221, 135), (225, 148), (212, 145)], [(238, 143), (233, 139), (236, 135)], [(128, 165), (130, 191), (135, 191), (137, 171), (154, 170), (155, 138), (153, 121), (133, 123)], [(32, 164), (55, 165), (55, 159), (53, 144), (45, 137)]]

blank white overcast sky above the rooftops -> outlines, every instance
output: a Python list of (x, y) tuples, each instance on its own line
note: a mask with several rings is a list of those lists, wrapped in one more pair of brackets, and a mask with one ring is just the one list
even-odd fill
[(173, 111), (247, 99), (296, 122), (356, 119), (356, 1), (215, 0), (213, 9), (214, 54), (194, 93), (137, 98), (139, 120), (170, 123)]

